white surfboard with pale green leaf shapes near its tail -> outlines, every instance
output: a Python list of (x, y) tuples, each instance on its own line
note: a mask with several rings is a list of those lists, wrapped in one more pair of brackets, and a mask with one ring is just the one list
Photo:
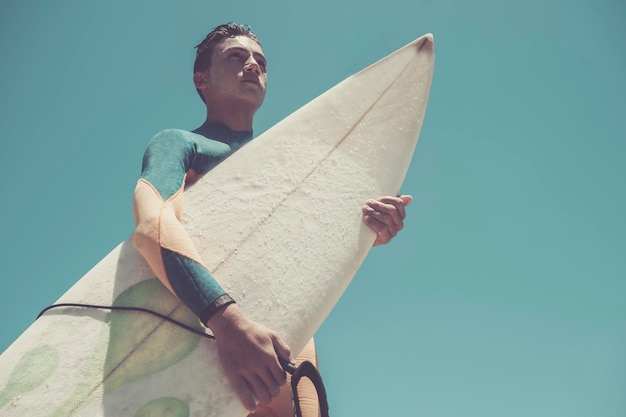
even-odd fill
[[(299, 352), (375, 234), (369, 198), (395, 195), (417, 144), (434, 43), (424, 35), (347, 78), (186, 191), (184, 224), (246, 314)], [(134, 306), (204, 331), (129, 239), (59, 303)], [(133, 311), (53, 309), (0, 356), (0, 415), (243, 417), (214, 341)]]

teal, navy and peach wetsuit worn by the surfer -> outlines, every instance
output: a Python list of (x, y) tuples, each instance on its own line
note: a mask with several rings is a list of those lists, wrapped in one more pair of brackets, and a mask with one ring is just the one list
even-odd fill
[[(252, 131), (236, 132), (221, 123), (203, 124), (193, 132), (169, 129), (158, 133), (144, 154), (133, 214), (134, 244), (155, 275), (206, 324), (219, 308), (234, 302), (203, 264), (180, 223), (183, 191), (252, 139)], [(313, 340), (296, 358), (317, 365)], [(318, 415), (317, 394), (308, 381), (299, 388), (303, 415)], [(251, 416), (292, 416), (289, 383), (269, 405)]]

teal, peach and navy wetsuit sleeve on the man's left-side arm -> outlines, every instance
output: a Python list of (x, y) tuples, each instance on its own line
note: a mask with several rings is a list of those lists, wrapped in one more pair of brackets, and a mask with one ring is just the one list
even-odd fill
[(185, 177), (196, 156), (197, 143), (182, 131), (166, 130), (150, 141), (134, 193), (133, 242), (161, 282), (206, 324), (234, 301), (211, 276), (180, 223)]

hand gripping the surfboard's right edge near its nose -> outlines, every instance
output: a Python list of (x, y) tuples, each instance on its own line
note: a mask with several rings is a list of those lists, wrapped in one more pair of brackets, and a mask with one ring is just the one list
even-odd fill
[(397, 197), (380, 197), (365, 202), (362, 208), (363, 220), (376, 232), (374, 246), (389, 243), (402, 230), (406, 216), (404, 208), (412, 201), (413, 197), (410, 195), (399, 195)]

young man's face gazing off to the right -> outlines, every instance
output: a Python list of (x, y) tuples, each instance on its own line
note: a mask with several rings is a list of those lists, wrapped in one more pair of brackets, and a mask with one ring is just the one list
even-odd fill
[(226, 38), (211, 55), (203, 89), (207, 106), (237, 104), (256, 111), (265, 99), (267, 62), (261, 46), (247, 36)]

